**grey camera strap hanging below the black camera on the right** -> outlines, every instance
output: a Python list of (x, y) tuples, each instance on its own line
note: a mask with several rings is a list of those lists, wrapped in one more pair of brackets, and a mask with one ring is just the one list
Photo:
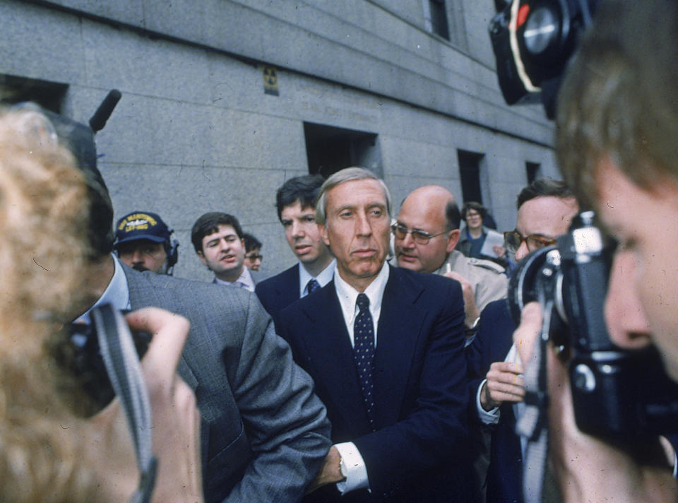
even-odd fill
[(525, 410), (516, 423), (516, 433), (527, 439), (523, 462), (525, 503), (540, 503), (548, 454), (548, 395), (546, 351), (553, 302), (544, 306), (544, 321), (535, 341), (532, 358), (525, 364)]

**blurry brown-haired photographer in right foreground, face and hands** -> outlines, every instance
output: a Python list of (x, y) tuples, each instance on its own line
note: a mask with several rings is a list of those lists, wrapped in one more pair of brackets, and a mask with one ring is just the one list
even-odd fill
[[(557, 155), (584, 204), (619, 243), (605, 319), (615, 343), (653, 343), (678, 381), (678, 3), (603, 0), (564, 79)], [(527, 365), (542, 314), (523, 309), (513, 334)], [(675, 502), (657, 442), (605, 441), (576, 427), (562, 355), (547, 350), (551, 461), (564, 498)]]

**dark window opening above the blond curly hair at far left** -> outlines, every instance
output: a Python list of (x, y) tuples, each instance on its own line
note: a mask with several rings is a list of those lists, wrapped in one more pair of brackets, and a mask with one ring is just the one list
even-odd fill
[(32, 101), (46, 110), (61, 114), (68, 88), (68, 84), (0, 74), (0, 102), (6, 105)]

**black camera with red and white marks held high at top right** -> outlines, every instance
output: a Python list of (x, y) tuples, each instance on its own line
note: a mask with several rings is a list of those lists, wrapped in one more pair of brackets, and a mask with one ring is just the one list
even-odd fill
[[(597, 0), (506, 0), (489, 23), (496, 73), (509, 105), (542, 101), (555, 115), (567, 61), (592, 23)], [(499, 10), (499, 8), (498, 8)]]

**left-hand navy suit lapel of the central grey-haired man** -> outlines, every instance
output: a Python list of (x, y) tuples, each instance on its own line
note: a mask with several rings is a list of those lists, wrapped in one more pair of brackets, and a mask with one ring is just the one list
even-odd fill
[(345, 427), (362, 431), (368, 424), (367, 412), (334, 281), (309, 300), (312, 302), (304, 306), (304, 314), (311, 322), (311, 329), (302, 337), (314, 374), (321, 380), (318, 386), (326, 390), (323, 399), (333, 404), (335, 414), (340, 415)]

